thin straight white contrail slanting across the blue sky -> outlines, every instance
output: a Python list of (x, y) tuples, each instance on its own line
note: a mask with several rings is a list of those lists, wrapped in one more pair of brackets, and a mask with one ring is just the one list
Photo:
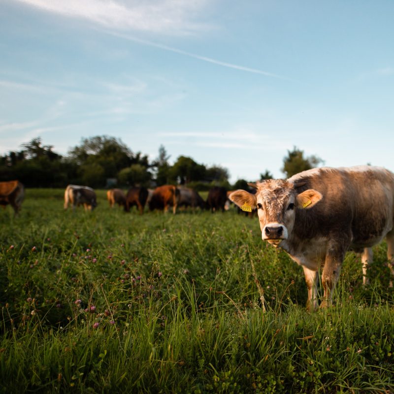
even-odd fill
[(173, 47), (170, 47), (170, 46), (167, 46), (167, 45), (158, 44), (156, 42), (152, 42), (152, 41), (143, 40), (143, 39), (140, 39), (140, 38), (131, 37), (130, 35), (127, 35), (127, 34), (122, 34), (122, 33), (113, 32), (113, 31), (109, 31), (109, 30), (100, 30), (100, 32), (105, 32), (105, 33), (114, 35), (116, 37), (124, 38), (124, 39), (129, 40), (129, 41), (134, 41), (134, 42), (138, 42), (140, 44), (144, 44), (144, 45), (149, 45), (149, 46), (153, 46), (153, 47), (156, 47), (156, 48), (160, 48), (160, 49), (163, 49), (165, 51), (179, 53), (180, 55), (189, 56), (190, 58), (202, 60), (204, 62), (212, 63), (212, 64), (215, 64), (215, 65), (218, 65), (218, 66), (234, 68), (236, 70), (241, 70), (241, 71), (253, 72), (255, 74), (261, 74), (261, 75), (265, 75), (267, 77), (272, 77), (272, 78), (286, 79), (286, 80), (289, 80), (289, 81), (292, 80), (292, 79), (290, 79), (288, 77), (284, 77), (282, 75), (277, 75), (277, 74), (273, 74), (271, 72), (258, 70), (256, 68), (238, 66), (238, 65), (233, 65), (231, 63), (221, 62), (221, 61), (216, 60), (216, 59), (208, 58), (206, 56), (196, 55), (194, 53), (182, 51), (181, 49), (173, 48)]

